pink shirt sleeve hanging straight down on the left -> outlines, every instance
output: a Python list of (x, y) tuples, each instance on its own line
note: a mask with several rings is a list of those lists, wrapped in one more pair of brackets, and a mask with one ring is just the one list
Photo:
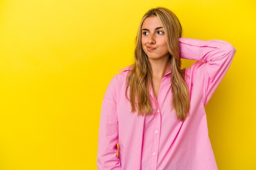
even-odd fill
[(106, 89), (101, 105), (97, 152), (98, 170), (121, 170), (121, 161), (117, 157), (116, 83), (116, 76), (114, 76)]

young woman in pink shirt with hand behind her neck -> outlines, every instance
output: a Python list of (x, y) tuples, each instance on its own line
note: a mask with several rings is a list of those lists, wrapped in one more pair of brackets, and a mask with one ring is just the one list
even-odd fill
[[(147, 11), (134, 63), (113, 76), (103, 98), (98, 169), (218, 170), (204, 107), (235, 53), (227, 41), (182, 37), (166, 8)], [(181, 69), (181, 58), (196, 62)]]

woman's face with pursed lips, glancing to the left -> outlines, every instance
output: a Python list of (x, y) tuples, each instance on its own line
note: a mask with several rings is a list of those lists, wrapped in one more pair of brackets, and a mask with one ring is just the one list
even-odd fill
[(166, 35), (156, 16), (147, 17), (144, 20), (141, 28), (141, 45), (150, 59), (169, 57)]

